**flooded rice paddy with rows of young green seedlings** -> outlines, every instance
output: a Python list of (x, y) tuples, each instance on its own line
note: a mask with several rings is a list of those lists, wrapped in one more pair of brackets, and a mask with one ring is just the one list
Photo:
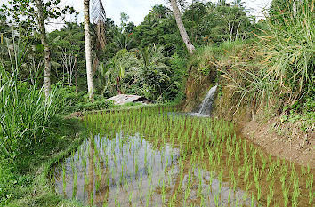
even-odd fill
[(94, 206), (311, 206), (309, 167), (266, 155), (233, 123), (148, 107), (85, 116), (86, 139), (52, 173)]

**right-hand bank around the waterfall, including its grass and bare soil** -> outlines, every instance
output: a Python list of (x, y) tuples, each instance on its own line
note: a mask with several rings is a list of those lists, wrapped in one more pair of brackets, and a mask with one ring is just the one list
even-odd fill
[(262, 33), (254, 39), (199, 49), (190, 58), (185, 110), (198, 107), (218, 84), (216, 116), (249, 127), (250, 139), (263, 147), (275, 144), (290, 151), (273, 149), (272, 155), (303, 163), (299, 156), (305, 154), (305, 161), (314, 160), (313, 3), (301, 1), (295, 12), (284, 5), (264, 20)]

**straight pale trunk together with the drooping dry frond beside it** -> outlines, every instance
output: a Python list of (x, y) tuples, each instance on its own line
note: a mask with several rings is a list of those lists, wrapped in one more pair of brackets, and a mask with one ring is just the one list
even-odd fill
[[(105, 41), (105, 21), (106, 13), (101, 0), (92, 0), (92, 19), (93, 23), (97, 24), (97, 36), (101, 47), (106, 44)], [(85, 15), (85, 60), (86, 60), (86, 75), (87, 88), (90, 100), (93, 101), (93, 69), (92, 69), (92, 44), (90, 35), (90, 0), (84, 0), (84, 15)]]

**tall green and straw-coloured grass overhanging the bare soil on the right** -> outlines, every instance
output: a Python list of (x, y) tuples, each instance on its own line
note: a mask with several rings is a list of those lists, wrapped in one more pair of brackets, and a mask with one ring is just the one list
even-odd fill
[(254, 44), (244, 44), (241, 50), (227, 47), (228, 59), (214, 65), (238, 96), (239, 105), (253, 102), (255, 109), (267, 106), (277, 115), (311, 111), (315, 0), (273, 2), (279, 4), (271, 6)]

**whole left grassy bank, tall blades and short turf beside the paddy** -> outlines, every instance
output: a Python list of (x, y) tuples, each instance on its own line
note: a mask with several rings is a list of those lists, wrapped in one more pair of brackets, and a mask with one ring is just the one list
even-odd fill
[(90, 103), (85, 94), (71, 93), (73, 89), (60, 84), (54, 84), (46, 98), (38, 79), (22, 78), (20, 73), (26, 47), (13, 44), (10, 49), (11, 61), (0, 64), (0, 206), (55, 205), (61, 197), (47, 188), (47, 171), (67, 155), (65, 150), (78, 146), (83, 131), (77, 120), (64, 115), (111, 103), (104, 99)]

